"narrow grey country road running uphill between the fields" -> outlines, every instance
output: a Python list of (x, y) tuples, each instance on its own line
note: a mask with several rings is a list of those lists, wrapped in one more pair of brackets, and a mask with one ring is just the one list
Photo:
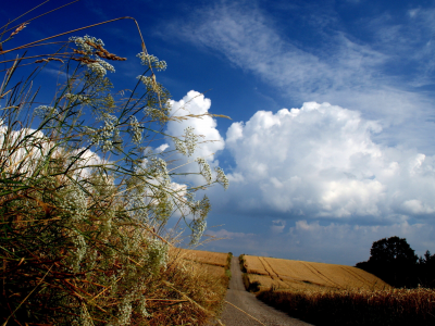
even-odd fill
[[(229, 281), (229, 289), (225, 298), (225, 300), (228, 301), (231, 304), (226, 303), (221, 318), (222, 323), (225, 324), (225, 326), (310, 325), (301, 321), (291, 318), (287, 314), (266, 305), (265, 303), (258, 300), (254, 294), (246, 291), (244, 283), (241, 280), (241, 272), (237, 256), (233, 256), (231, 271), (233, 277)], [(243, 313), (236, 306), (245, 311), (250, 316), (246, 313)]]

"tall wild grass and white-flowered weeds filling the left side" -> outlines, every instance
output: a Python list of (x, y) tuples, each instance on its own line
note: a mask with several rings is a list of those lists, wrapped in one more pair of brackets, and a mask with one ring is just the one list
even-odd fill
[[(173, 253), (165, 230), (177, 214), (199, 241), (210, 202), (195, 192), (227, 186), (222, 170), (201, 187), (174, 184), (158, 138), (190, 155), (195, 130), (164, 134), (166, 64), (142, 51), (133, 91), (113, 90), (109, 62), (124, 61), (95, 37), (73, 37), (33, 58), (39, 40), (5, 50), (25, 23), (1, 34), (0, 321), (2, 325), (202, 325), (220, 309), (219, 287)], [(8, 55), (10, 55), (8, 54)], [(17, 54), (17, 57), (15, 57)], [(30, 60), (32, 59), (32, 60)], [(21, 75), (32, 62), (35, 71)], [(64, 83), (36, 104), (37, 73), (57, 64)], [(37, 87), (36, 87), (37, 86)], [(191, 115), (190, 118), (198, 116)], [(174, 153), (174, 152), (173, 152)], [(199, 172), (210, 170), (200, 161)], [(178, 177), (178, 176), (177, 176)], [(178, 179), (177, 179), (178, 180)], [(186, 217), (191, 216), (191, 220)]]

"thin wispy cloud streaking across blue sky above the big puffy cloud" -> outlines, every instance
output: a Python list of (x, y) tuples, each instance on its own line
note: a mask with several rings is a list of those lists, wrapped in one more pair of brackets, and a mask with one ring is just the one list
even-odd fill
[[(425, 14), (424, 22), (430, 21), (426, 16), (433, 14)], [(382, 121), (384, 133), (377, 141), (435, 153), (435, 146), (427, 140), (433, 129), (433, 97), (413, 88), (432, 83), (432, 46), (421, 49), (420, 42), (423, 35), (431, 35), (427, 33), (434, 24), (419, 23), (422, 27), (413, 22), (391, 25), (383, 18), (364, 21), (366, 26), (358, 27), (378, 40), (373, 43), (358, 40), (334, 25), (330, 27), (338, 29), (319, 32), (319, 41), (313, 45), (286, 35), (274, 23), (258, 5), (223, 1), (199, 10), (188, 24), (173, 25), (171, 34), (220, 53), (293, 101), (326, 101)], [(396, 63), (415, 67), (407, 70), (411, 77), (400, 75), (399, 67), (391, 74)]]

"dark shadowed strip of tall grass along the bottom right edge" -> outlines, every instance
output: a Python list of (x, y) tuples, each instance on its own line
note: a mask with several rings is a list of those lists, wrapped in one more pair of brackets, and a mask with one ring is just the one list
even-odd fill
[(290, 316), (314, 325), (434, 325), (435, 291), (277, 290), (257, 296)]

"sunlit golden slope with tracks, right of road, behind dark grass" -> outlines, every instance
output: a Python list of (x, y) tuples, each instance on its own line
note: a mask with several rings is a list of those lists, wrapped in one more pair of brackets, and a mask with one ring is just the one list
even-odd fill
[(357, 267), (244, 255), (249, 284), (259, 289), (389, 289), (378, 277)]

